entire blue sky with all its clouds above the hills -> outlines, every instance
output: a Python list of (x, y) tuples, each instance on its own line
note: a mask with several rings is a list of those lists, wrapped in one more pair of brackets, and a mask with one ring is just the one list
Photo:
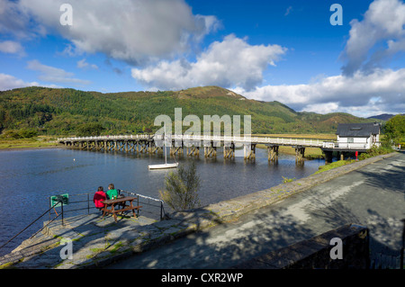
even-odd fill
[(0, 91), (31, 85), (219, 85), (297, 112), (402, 113), (405, 3), (0, 0)]

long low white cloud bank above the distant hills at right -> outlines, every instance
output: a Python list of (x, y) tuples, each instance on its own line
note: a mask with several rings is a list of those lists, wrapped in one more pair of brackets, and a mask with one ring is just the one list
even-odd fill
[(357, 71), (354, 76), (329, 76), (306, 85), (266, 85), (235, 93), (262, 101), (285, 103), (296, 111), (350, 112), (369, 116), (375, 112), (405, 111), (405, 68)]

